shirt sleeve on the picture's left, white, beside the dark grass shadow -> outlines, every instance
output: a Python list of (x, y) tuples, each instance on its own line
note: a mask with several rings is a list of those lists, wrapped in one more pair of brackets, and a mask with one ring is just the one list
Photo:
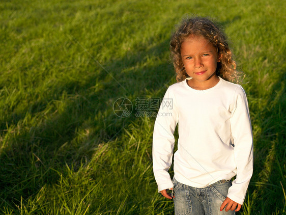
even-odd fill
[(174, 185), (168, 170), (172, 164), (174, 131), (178, 120), (175, 97), (169, 87), (162, 99), (153, 132), (153, 171), (159, 192)]

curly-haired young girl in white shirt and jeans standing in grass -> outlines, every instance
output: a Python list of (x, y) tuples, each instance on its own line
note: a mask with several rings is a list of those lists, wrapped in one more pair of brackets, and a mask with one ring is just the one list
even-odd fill
[[(170, 50), (178, 83), (167, 89), (154, 125), (153, 169), (159, 193), (174, 199), (175, 214), (235, 214), (253, 169), (247, 99), (243, 88), (232, 83), (241, 73), (235, 70), (224, 34), (207, 18), (182, 21)], [(173, 190), (171, 195), (168, 190)]]

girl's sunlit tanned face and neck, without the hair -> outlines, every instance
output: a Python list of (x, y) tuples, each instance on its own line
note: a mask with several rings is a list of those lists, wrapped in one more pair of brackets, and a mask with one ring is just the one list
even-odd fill
[(201, 90), (217, 84), (215, 71), (219, 58), (211, 42), (201, 36), (189, 36), (181, 44), (181, 58), (187, 74), (192, 77), (188, 80), (191, 87)]

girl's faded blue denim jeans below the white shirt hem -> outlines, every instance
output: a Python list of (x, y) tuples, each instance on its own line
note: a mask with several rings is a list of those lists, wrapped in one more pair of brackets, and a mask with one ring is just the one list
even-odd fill
[(232, 185), (230, 180), (220, 180), (204, 188), (196, 188), (182, 184), (175, 178), (173, 178), (173, 183), (176, 215), (236, 214), (234, 210), (228, 210), (227, 212), (225, 210), (219, 210), (222, 202), (226, 198), (228, 188)]

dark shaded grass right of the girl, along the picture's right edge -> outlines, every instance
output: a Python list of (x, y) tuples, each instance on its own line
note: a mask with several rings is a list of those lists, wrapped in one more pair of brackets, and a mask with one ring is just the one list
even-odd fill
[[(254, 170), (248, 189), (250, 202), (252, 202), (250, 211), (255, 210), (257, 214), (272, 214), (273, 212), (280, 214), (285, 205), (283, 184), (286, 181), (283, 168), (286, 155), (284, 145), (286, 101), (285, 85), (281, 82), (285, 77), (286, 73), (280, 71), (277, 81), (273, 83), (271, 93), (263, 102), (266, 105), (262, 106), (258, 100), (250, 106), (250, 111), (255, 116), (254, 123), (260, 127), (260, 132), (254, 137), (256, 138), (254, 140), (256, 142)], [(255, 94), (256, 92), (250, 92), (251, 97), (260, 99)]]

